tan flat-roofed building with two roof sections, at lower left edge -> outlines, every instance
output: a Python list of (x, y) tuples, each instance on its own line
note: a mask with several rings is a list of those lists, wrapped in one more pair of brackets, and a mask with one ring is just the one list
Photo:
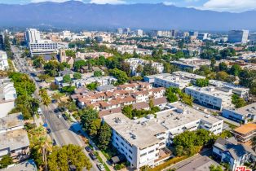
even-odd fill
[(0, 119), (0, 158), (5, 155), (10, 155), (14, 161), (29, 157), (29, 137), (22, 113)]

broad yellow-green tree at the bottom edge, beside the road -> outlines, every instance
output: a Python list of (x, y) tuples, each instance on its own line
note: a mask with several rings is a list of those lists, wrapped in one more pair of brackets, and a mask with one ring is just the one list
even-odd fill
[(89, 158), (82, 151), (82, 147), (73, 144), (55, 147), (51, 155), (48, 156), (48, 168), (50, 171), (69, 170), (69, 165), (74, 165), (77, 170), (82, 170), (84, 167), (90, 170), (92, 167)]

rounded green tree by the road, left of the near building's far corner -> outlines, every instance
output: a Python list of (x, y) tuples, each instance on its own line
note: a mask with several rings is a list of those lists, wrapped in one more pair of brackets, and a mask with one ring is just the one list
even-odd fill
[(99, 118), (99, 113), (92, 108), (84, 108), (81, 115), (82, 127), (88, 131), (93, 121)]

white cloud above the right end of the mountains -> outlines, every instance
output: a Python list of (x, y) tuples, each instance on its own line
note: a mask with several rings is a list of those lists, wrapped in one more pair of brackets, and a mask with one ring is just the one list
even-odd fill
[(256, 0), (209, 0), (201, 9), (214, 11), (249, 11), (256, 9)]

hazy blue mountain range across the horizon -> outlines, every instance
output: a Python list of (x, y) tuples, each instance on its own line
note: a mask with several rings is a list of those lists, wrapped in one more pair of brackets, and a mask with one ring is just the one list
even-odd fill
[(93, 4), (77, 1), (0, 4), (0, 26), (69, 29), (256, 30), (256, 11), (201, 11), (164, 4)]

